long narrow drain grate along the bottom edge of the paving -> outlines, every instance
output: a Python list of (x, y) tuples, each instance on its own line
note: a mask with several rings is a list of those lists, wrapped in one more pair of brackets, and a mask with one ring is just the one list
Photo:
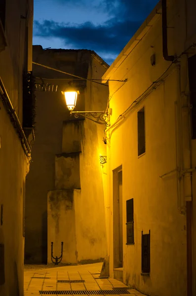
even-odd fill
[(91, 291), (39, 291), (40, 295), (119, 295), (130, 294), (127, 290), (91, 290)]

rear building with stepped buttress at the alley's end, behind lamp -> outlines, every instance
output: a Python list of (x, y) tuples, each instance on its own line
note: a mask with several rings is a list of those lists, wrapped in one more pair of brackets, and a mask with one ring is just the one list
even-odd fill
[(108, 65), (93, 51), (41, 46), (33, 46), (33, 61), (68, 74), (33, 67), (36, 143), (26, 183), (25, 262), (51, 263), (52, 242), (54, 257), (63, 242), (62, 263), (96, 262), (107, 255), (106, 175), (99, 159), (106, 155), (105, 124), (71, 116), (61, 91), (72, 81), (77, 111), (105, 111), (108, 86), (88, 79), (101, 79)]

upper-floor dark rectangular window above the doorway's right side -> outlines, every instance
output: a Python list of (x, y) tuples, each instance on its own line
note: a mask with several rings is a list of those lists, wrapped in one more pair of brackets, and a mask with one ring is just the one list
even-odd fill
[(138, 156), (140, 156), (146, 151), (144, 107), (137, 112), (137, 137), (138, 137)]

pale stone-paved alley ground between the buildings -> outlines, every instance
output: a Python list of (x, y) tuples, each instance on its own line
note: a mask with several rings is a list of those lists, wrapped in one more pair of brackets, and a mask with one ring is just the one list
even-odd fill
[[(99, 279), (102, 263), (63, 266), (52, 268), (38, 268), (24, 270), (24, 296), (38, 296), (39, 291), (90, 291), (90, 290), (118, 290), (127, 286), (113, 279)], [(82, 283), (61, 283), (58, 281), (79, 280)], [(115, 289), (116, 288), (116, 289)], [(126, 289), (129, 294), (120, 296), (144, 296), (134, 289)], [(54, 293), (54, 294), (53, 294)], [(53, 292), (50, 295), (62, 295)], [(60, 293), (60, 292), (59, 292)], [(75, 293), (75, 292), (74, 292)], [(86, 292), (84, 292), (86, 293)], [(115, 292), (114, 292), (115, 293)], [(48, 295), (47, 292), (44, 293)], [(72, 295), (72, 294), (70, 294)], [(115, 294), (113, 294), (115, 295)]]

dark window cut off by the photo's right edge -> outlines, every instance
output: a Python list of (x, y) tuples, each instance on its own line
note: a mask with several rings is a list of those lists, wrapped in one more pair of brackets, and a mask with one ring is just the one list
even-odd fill
[(196, 139), (196, 55), (189, 58), (189, 88), (191, 103), (192, 139)]

